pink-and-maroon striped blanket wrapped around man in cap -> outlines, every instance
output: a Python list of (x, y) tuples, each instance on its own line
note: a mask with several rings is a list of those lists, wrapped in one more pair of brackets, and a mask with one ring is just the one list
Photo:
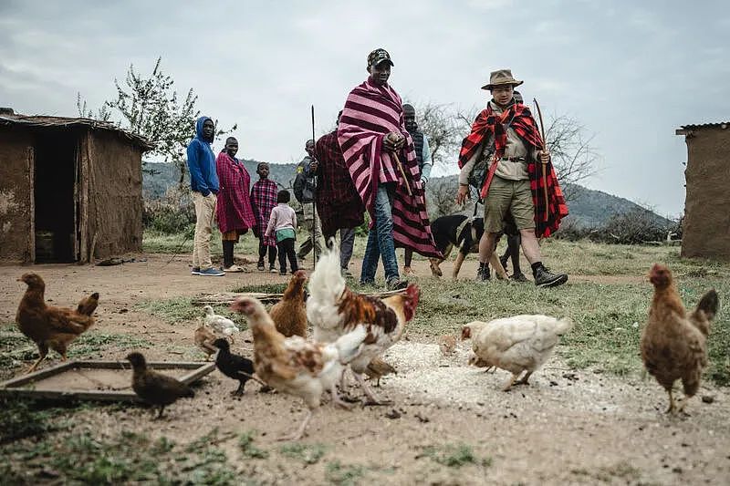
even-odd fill
[[(403, 123), (401, 97), (390, 86), (376, 86), (367, 81), (350, 91), (342, 117), (339, 119), (338, 140), (348, 165), (349, 175), (360, 193), (362, 202), (374, 218), (375, 193), (381, 173), (381, 162), (391, 162), (391, 154), (381, 152), (383, 137), (391, 132), (406, 137), (399, 154), (403, 171), (411, 186), (408, 195), (399, 174), (399, 183), (393, 198), (393, 241), (396, 247), (411, 248), (423, 256), (440, 257), (433, 243), (431, 223), (426, 212), (426, 199), (413, 149), (413, 140)], [(385, 160), (387, 159), (387, 160)]]

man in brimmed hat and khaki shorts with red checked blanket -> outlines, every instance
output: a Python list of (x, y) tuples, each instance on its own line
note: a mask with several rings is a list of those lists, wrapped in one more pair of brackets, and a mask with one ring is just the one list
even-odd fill
[(568, 215), (568, 206), (535, 119), (525, 105), (515, 101), (514, 88), (521, 84), (511, 70), (500, 69), (482, 87), (491, 92), (492, 99), (462, 143), (456, 202), (462, 204), (469, 197), (468, 180), (474, 168), (487, 167), (480, 191), (485, 205), (485, 233), (479, 241), (477, 280), (489, 279), (487, 262), (495, 251), (495, 236), (502, 230), (505, 213), (510, 211), (535, 284), (553, 287), (565, 284), (568, 275), (547, 270), (537, 238), (558, 230), (560, 220)]

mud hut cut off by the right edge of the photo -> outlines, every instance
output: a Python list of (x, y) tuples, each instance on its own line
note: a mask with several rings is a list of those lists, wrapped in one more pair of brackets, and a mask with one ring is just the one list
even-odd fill
[(683, 256), (730, 258), (730, 122), (685, 125)]

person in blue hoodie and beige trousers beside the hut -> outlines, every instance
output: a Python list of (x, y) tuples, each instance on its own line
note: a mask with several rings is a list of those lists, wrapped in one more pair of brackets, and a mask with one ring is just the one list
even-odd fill
[(213, 119), (201, 117), (195, 123), (195, 138), (188, 145), (190, 189), (195, 204), (195, 237), (193, 240), (193, 275), (223, 276), (211, 263), (211, 232), (215, 218), (218, 174), (211, 149), (215, 126)]

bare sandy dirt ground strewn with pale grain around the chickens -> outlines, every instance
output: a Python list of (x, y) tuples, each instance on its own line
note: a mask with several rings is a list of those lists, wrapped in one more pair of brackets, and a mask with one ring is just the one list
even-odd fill
[[(166, 255), (146, 258), (146, 263), (110, 267), (0, 266), (0, 321), (15, 319), (25, 289), (16, 278), (34, 271), (46, 279), (48, 301), (69, 305), (80, 295), (99, 292), (97, 331), (143, 337), (160, 345), (143, 350), (150, 359), (179, 360), (165, 351), (167, 345), (192, 348), (195, 324), (171, 325), (135, 311), (136, 303), (230, 291), (244, 284), (281, 283), (287, 278), (255, 269), (223, 278), (193, 277), (181, 258), (171, 264)], [(473, 264), (464, 264), (463, 275), (474, 274)], [(425, 262), (415, 262), (415, 267), (418, 274), (429, 274)], [(444, 274), (450, 269), (450, 264), (443, 264)], [(235, 349), (246, 354), (252, 345), (246, 343), (246, 333), (243, 337), (236, 339)], [(688, 406), (691, 416), (671, 418), (662, 413), (666, 395), (652, 379), (570, 370), (553, 357), (533, 376), (529, 387), (504, 393), (499, 389), (506, 372), (466, 367), (467, 346), (460, 343), (451, 357), (443, 357), (435, 343), (412, 336), (392, 347), (386, 360), (398, 374), (383, 378), (379, 393), (391, 398), (393, 405), (347, 411), (325, 403), (304, 439), (328, 446), (316, 464), (304, 466), (275, 453), (263, 460), (242, 458), (234, 435), (219, 447), (229, 453), (242, 478), (265, 483), (323, 483), (326, 464), (334, 460), (362, 466), (362, 483), (730, 481), (730, 393), (725, 388), (705, 384)], [(104, 358), (122, 359), (128, 352), (119, 349)], [(53, 355), (44, 367), (56, 362)], [(243, 398), (231, 398), (229, 392), (235, 386), (214, 371), (197, 385), (196, 398), (169, 408), (167, 419), (152, 421), (149, 410), (136, 406), (92, 408), (78, 412), (76, 419), (99, 434), (135, 429), (183, 443), (215, 426), (235, 433), (255, 429), (262, 434), (256, 441), (259, 447), (277, 450), (276, 437), (296, 427), (305, 409), (297, 399), (258, 393), (254, 383), (247, 385)], [(703, 396), (714, 399), (704, 403)], [(462, 442), (472, 446), (479, 458), (490, 458), (491, 465), (446, 467), (423, 453), (427, 446)]]

